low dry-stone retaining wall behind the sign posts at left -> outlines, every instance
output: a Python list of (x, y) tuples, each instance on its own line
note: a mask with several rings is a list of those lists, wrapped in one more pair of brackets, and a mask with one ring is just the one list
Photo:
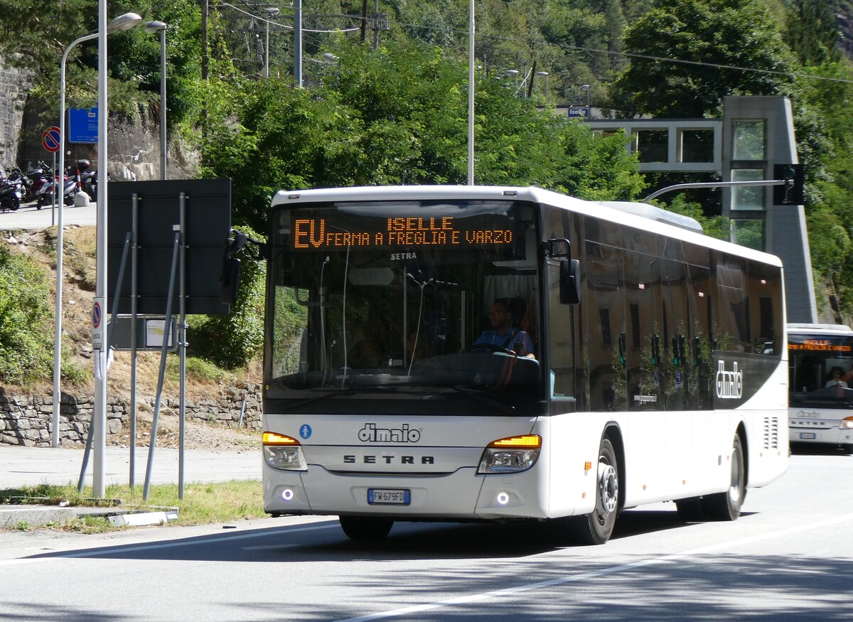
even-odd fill
[[(260, 429), (261, 392), (259, 385), (249, 385), (242, 389), (230, 387), (218, 396), (199, 401), (187, 400), (184, 412), (187, 419), (197, 419), (210, 423), (235, 427), (240, 422), (243, 398), (246, 408), (243, 410), (242, 427)], [(154, 411), (154, 399), (138, 397), (137, 407)], [(131, 399), (108, 398), (107, 400), (107, 436), (121, 431), (122, 424), (130, 421)], [(160, 412), (166, 409), (177, 414), (177, 399), (163, 399)], [(85, 445), (89, 433), (89, 422), (94, 410), (91, 395), (69, 395), (62, 393), (60, 401), (60, 445)], [(25, 445), (27, 447), (49, 447), (53, 431), (52, 395), (7, 395), (0, 389), (0, 445)]]

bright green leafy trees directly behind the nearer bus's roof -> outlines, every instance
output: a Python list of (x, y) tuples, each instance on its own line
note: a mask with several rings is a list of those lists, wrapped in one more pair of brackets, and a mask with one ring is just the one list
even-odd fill
[[(223, 108), (223, 122), (209, 126), (205, 173), (237, 180), (236, 220), (263, 228), (279, 189), (466, 183), (466, 64), (411, 42), (336, 51), (333, 84), (314, 92), (279, 80), (243, 84), (235, 109)], [(590, 199), (630, 199), (641, 190), (624, 135), (593, 140), (583, 124), (510, 89), (479, 74), (477, 183), (535, 184)]]

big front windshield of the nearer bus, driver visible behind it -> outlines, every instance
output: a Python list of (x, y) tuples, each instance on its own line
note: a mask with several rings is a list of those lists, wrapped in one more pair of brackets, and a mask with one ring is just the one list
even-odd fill
[(266, 397), (446, 397), (490, 404), (492, 414), (537, 398), (535, 213), (520, 201), (279, 209)]

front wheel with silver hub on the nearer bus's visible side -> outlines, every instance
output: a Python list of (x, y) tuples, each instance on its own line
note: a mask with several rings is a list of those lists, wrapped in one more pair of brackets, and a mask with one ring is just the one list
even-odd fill
[(613, 533), (618, 512), (619, 465), (610, 439), (604, 438), (598, 450), (595, 509), (590, 514), (572, 516), (572, 531), (583, 544), (604, 544)]

